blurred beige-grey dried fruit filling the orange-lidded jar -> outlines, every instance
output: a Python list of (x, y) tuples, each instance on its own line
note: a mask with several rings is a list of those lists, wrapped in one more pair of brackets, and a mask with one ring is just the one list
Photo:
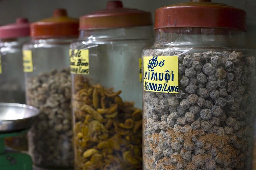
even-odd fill
[(46, 167), (73, 167), (69, 69), (28, 78), (26, 94), (27, 104), (40, 109), (28, 133), (33, 162)]

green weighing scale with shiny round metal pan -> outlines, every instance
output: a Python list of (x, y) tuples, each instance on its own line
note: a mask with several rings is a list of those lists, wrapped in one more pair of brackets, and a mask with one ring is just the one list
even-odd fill
[(32, 170), (31, 157), (6, 150), (4, 138), (27, 133), (38, 114), (39, 110), (32, 106), (0, 103), (0, 170)]

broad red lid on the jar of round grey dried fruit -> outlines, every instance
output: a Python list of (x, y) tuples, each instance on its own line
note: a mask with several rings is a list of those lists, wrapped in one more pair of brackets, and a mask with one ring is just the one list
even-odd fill
[(155, 28), (208, 27), (230, 28), (245, 31), (246, 12), (211, 0), (190, 0), (158, 8)]

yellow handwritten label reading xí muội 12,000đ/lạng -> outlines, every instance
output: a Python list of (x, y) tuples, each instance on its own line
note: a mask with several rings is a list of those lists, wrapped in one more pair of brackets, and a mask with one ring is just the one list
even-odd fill
[(179, 93), (178, 56), (143, 57), (144, 90)]

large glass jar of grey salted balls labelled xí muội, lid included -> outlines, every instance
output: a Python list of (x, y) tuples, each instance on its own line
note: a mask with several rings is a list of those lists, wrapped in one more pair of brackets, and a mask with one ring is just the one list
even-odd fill
[(245, 18), (209, 1), (156, 10), (155, 44), (142, 54), (144, 169), (251, 168), (255, 52)]

